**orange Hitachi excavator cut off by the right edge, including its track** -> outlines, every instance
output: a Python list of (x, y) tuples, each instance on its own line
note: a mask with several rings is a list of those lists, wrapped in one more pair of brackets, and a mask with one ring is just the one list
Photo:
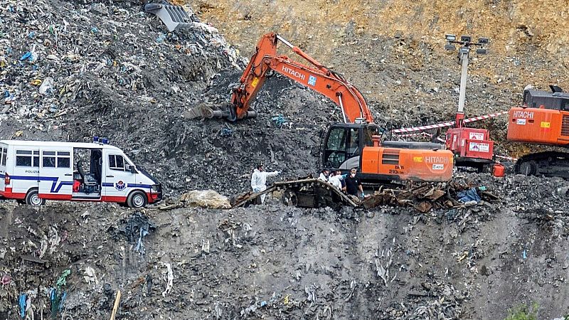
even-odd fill
[[(569, 94), (551, 85), (551, 92), (523, 90), (523, 104), (509, 111), (507, 139), (569, 147)], [(526, 176), (569, 178), (569, 153), (543, 151), (521, 156), (514, 167)]]

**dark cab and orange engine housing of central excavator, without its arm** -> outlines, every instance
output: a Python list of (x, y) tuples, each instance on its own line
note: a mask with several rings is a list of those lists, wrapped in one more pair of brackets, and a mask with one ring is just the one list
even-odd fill
[(358, 168), (362, 181), (449, 181), (453, 154), (442, 144), (381, 142), (381, 127), (373, 123), (331, 124), (321, 148), (324, 168)]

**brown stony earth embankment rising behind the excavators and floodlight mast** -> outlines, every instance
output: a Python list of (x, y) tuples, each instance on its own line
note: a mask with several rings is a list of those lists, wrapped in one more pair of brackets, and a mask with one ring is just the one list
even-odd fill
[[(275, 31), (346, 75), (368, 98), (378, 121), (395, 127), (452, 119), (460, 67), (445, 33), (490, 39), (474, 59), (467, 115), (508, 110), (528, 84), (568, 83), (568, 9), (555, 1), (210, 1), (189, 0), (203, 21), (250, 56)], [(282, 53), (294, 55), (282, 46)], [(401, 112), (405, 110), (405, 112)], [(505, 140), (505, 117), (478, 123)], [(507, 146), (510, 151), (519, 151)]]

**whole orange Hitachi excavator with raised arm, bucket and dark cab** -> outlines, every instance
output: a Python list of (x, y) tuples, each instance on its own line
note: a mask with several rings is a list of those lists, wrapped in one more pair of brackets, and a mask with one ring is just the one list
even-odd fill
[[(309, 65), (277, 55), (277, 43), (284, 43)], [(255, 53), (233, 89), (228, 110), (202, 110), (208, 117), (230, 121), (256, 117), (251, 102), (262, 87), (267, 72), (273, 70), (325, 95), (342, 111), (345, 123), (331, 124), (321, 141), (321, 165), (349, 171), (358, 168), (362, 181), (449, 181), (452, 178), (453, 154), (441, 144), (426, 142), (381, 142), (381, 127), (361, 92), (338, 73), (326, 68), (311, 56), (276, 33), (267, 33), (257, 43)]]

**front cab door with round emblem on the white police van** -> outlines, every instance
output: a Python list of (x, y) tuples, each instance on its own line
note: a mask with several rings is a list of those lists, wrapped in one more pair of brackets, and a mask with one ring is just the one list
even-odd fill
[(132, 165), (119, 151), (105, 151), (103, 154), (102, 178), (105, 187), (105, 201), (125, 202), (136, 181), (136, 174), (127, 171)]

